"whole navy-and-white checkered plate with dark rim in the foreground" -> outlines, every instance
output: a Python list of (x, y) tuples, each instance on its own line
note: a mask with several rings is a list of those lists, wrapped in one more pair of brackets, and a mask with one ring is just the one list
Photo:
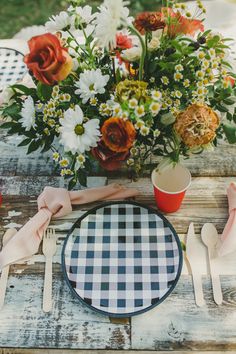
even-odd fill
[(62, 266), (73, 293), (111, 317), (129, 317), (160, 304), (182, 269), (171, 224), (133, 202), (100, 205), (77, 220), (64, 244)]

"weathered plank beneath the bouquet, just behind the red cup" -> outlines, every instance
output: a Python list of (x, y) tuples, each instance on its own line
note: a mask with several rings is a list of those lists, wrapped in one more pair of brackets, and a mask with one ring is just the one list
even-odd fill
[[(6, 136), (6, 132), (0, 128), (0, 175), (56, 175), (50, 152), (46, 154), (35, 152), (27, 156), (26, 148), (17, 147), (19, 141), (16, 136)], [(158, 160), (153, 158), (154, 165)], [(236, 145), (222, 142), (214, 151), (205, 151), (202, 155), (194, 155), (191, 159), (184, 161), (184, 164), (194, 176), (236, 176)], [(104, 172), (104, 175), (108, 175), (108, 173)], [(123, 169), (109, 175), (127, 176), (127, 171)], [(150, 175), (149, 169), (145, 175)]]

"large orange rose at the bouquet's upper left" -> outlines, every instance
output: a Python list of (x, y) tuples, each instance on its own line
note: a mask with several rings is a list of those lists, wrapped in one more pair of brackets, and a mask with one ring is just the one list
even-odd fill
[(30, 53), (25, 56), (25, 63), (37, 80), (53, 85), (67, 78), (73, 62), (57, 36), (51, 33), (36, 36), (28, 45)]

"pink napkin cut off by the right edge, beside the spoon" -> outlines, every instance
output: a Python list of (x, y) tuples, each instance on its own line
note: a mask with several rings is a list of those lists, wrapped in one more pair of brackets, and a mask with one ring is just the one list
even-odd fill
[(229, 220), (221, 236), (219, 256), (236, 251), (236, 184), (231, 183), (227, 189), (229, 201)]

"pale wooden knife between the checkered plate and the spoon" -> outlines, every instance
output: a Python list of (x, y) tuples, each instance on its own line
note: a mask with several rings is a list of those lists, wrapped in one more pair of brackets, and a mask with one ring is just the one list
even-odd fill
[(196, 250), (196, 244), (194, 242), (194, 237), (195, 237), (194, 224), (191, 223), (189, 225), (187, 239), (186, 239), (186, 257), (192, 271), (195, 301), (197, 306), (201, 307), (205, 305), (205, 300), (203, 297), (202, 275), (199, 274), (199, 268), (198, 268), (199, 259)]

